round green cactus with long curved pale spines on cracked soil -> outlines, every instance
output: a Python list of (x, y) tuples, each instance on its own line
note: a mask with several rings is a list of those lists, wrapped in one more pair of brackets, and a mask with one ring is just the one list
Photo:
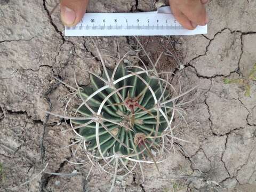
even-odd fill
[(101, 169), (113, 175), (111, 190), (117, 176), (134, 173), (137, 165), (142, 182), (143, 163), (155, 164), (159, 172), (157, 164), (166, 159), (166, 151), (174, 148), (175, 141), (182, 140), (174, 137), (176, 126), (172, 122), (175, 111), (183, 118), (180, 106), (184, 103), (177, 100), (191, 90), (178, 95), (168, 82), (169, 73), (162, 73), (166, 80), (161, 78), (153, 63), (153, 69), (127, 66), (123, 62), (126, 54), (110, 71), (100, 54), (99, 57), (103, 75), (87, 70), (91, 84), (71, 87), (75, 90), (73, 97), (81, 100), (80, 105), (72, 116), (57, 116), (70, 119), (71, 130), (78, 135), (75, 143), (83, 144), (92, 163), (89, 174)]

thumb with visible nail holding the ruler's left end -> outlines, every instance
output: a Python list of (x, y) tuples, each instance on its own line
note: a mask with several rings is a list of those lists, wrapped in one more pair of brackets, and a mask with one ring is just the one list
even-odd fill
[(66, 26), (74, 26), (82, 20), (89, 0), (61, 0), (61, 20)]

